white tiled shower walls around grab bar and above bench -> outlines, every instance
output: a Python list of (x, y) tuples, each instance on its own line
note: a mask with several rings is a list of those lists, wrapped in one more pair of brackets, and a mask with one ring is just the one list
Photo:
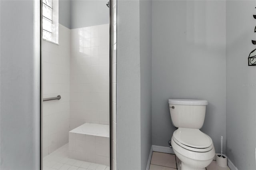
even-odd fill
[(68, 143), (68, 131), (84, 123), (109, 125), (109, 24), (68, 29), (59, 45), (42, 41), (43, 156)]

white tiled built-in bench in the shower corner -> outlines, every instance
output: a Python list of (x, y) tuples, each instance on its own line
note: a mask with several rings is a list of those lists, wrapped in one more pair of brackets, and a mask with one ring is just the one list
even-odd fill
[(109, 125), (84, 123), (69, 131), (69, 157), (110, 166)]

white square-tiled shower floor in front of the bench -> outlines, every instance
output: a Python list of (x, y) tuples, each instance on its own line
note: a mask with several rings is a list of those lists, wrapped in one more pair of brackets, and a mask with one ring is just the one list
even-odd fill
[(110, 167), (68, 158), (67, 143), (43, 158), (43, 170), (110, 170)]

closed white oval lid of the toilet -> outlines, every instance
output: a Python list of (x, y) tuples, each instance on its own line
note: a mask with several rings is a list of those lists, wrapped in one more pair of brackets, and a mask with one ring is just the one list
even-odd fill
[(199, 129), (178, 128), (174, 131), (173, 137), (176, 141), (193, 148), (209, 148), (212, 139)]

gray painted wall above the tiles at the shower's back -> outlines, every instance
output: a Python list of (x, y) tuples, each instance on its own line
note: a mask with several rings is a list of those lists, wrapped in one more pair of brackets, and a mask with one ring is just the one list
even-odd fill
[(109, 23), (108, 0), (71, 0), (70, 29)]

